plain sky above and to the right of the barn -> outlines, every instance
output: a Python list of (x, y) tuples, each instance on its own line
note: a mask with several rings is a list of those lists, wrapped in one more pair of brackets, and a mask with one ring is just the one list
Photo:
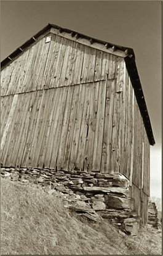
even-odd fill
[(151, 146), (151, 196), (162, 194), (161, 1), (1, 1), (1, 60), (54, 23), (133, 48), (156, 144)]

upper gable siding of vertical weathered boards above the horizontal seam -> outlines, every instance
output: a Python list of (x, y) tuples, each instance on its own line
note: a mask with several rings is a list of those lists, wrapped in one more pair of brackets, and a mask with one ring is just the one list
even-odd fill
[[(116, 56), (50, 35), (1, 72), (1, 96), (115, 78)], [(14, 86), (13, 86), (14, 85)]]

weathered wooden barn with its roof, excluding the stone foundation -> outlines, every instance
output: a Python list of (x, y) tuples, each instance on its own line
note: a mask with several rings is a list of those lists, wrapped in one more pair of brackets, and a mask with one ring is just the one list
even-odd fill
[(122, 173), (143, 224), (153, 131), (128, 47), (49, 24), (1, 62), (1, 166)]

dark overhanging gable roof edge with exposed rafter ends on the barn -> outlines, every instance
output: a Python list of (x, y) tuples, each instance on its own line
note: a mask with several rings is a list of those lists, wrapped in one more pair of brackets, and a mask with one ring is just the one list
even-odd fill
[[(141, 112), (141, 117), (143, 118), (143, 123), (145, 125), (146, 133), (148, 136), (149, 144), (154, 145), (154, 136), (153, 136), (153, 130), (151, 127), (151, 122), (148, 115), (148, 110), (146, 107), (145, 97), (143, 95), (143, 90), (140, 83), (140, 78), (138, 76), (137, 66), (135, 63), (135, 54), (133, 52), (132, 48), (129, 47), (123, 47), (118, 46), (116, 44), (111, 44), (106, 41), (101, 41), (99, 39), (92, 38), (90, 36), (83, 35), (81, 33), (78, 33), (73, 30), (69, 30), (67, 28), (59, 27), (58, 25), (54, 24), (48, 24), (46, 27), (44, 27), (42, 30), (40, 30), (36, 35), (32, 36), (28, 41), (26, 41), (22, 46), (18, 47), (12, 54), (6, 57), (6, 59), (2, 60), (1, 62), (1, 69), (4, 69), (7, 65), (10, 64), (15, 58), (20, 56), (23, 51), (28, 49), (30, 46), (32, 46), (36, 41), (38, 41), (43, 36), (47, 35), (50, 30), (54, 29), (57, 31), (57, 34), (60, 35), (62, 33), (65, 33), (68, 36), (71, 36), (71, 38), (75, 37), (76, 41), (81, 38), (86, 40), (86, 43), (91, 47), (95, 47), (101, 49), (101, 51), (106, 51), (111, 54), (124, 57), (125, 64), (127, 67), (127, 71), (130, 76), (130, 80), (132, 82), (132, 86), (134, 89), (135, 97), (137, 98), (138, 107)], [(62, 35), (63, 36), (63, 35)], [(80, 41), (79, 41), (80, 43)], [(82, 43), (82, 42), (81, 42)], [(94, 46), (93, 46), (94, 44)]]

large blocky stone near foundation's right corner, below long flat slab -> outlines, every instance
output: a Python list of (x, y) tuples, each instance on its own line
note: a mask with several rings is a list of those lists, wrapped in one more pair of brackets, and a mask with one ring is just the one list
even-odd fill
[(133, 202), (129, 197), (105, 195), (105, 203), (111, 209), (133, 209)]

